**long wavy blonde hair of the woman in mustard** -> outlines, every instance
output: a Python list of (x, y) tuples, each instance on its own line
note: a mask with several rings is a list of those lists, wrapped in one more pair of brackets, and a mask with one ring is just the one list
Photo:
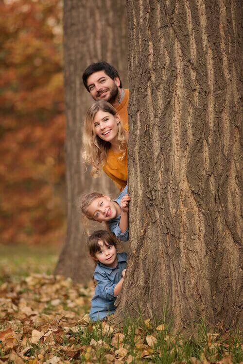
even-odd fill
[[(93, 103), (87, 111), (83, 130), (84, 151), (82, 152), (82, 157), (85, 162), (92, 165), (90, 173), (93, 177), (100, 177), (100, 170), (105, 164), (107, 153), (111, 146), (110, 142), (105, 142), (94, 132), (94, 117), (100, 110), (114, 116), (118, 114), (116, 109), (104, 100)], [(119, 149), (123, 152), (119, 160), (122, 161), (126, 156), (127, 143), (126, 132), (121, 121), (118, 124), (118, 140), (120, 141)]]

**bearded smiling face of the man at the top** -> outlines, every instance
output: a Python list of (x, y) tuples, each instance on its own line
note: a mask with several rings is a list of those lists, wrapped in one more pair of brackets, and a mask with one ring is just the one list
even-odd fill
[(112, 80), (104, 71), (98, 71), (87, 78), (87, 86), (95, 101), (105, 100), (112, 104), (117, 98), (120, 80), (118, 77)]

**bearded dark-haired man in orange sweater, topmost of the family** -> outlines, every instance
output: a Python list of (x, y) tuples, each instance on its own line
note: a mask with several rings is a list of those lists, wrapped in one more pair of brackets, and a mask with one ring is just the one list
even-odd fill
[(123, 125), (128, 123), (129, 90), (122, 88), (115, 67), (105, 61), (92, 63), (83, 73), (83, 83), (95, 101), (108, 101), (117, 110)]

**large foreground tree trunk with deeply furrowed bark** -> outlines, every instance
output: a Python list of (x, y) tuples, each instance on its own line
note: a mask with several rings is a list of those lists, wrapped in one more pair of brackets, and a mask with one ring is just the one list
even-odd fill
[(127, 0), (131, 257), (115, 320), (240, 314), (240, 6)]

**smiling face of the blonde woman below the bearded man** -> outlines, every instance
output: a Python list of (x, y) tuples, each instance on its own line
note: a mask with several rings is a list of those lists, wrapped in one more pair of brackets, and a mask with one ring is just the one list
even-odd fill
[(112, 143), (117, 139), (119, 123), (120, 117), (118, 114), (112, 115), (99, 110), (94, 117), (94, 132), (105, 142)]

